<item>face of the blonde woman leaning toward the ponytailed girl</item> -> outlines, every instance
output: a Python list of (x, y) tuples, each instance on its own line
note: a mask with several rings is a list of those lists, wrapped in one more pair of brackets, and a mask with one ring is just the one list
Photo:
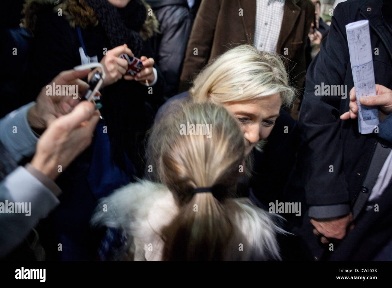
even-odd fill
[(281, 104), (279, 93), (254, 100), (223, 103), (240, 121), (245, 137), (245, 154), (249, 154), (258, 141), (269, 136), (279, 116)]

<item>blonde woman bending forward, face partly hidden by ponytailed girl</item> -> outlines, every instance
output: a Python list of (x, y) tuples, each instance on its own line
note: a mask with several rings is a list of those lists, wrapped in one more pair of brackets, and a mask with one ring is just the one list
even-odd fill
[[(264, 152), (252, 153), (256, 160), (254, 171), (249, 163), (250, 158), (247, 158), (244, 167), (244, 174), (253, 174), (257, 180), (252, 184), (254, 194), (268, 205), (270, 201), (278, 199), (277, 195), (283, 191), (294, 161), (294, 151), (290, 150), (294, 145), (287, 142), (292, 136), (290, 132), (295, 121), (281, 108), (292, 107), (295, 92), (289, 86), (289, 77), (281, 56), (259, 51), (250, 45), (239, 45), (209, 63), (195, 78), (189, 91), (170, 98), (161, 107), (154, 120), (151, 136), (165, 133), (156, 129), (156, 123), (167, 121), (187, 102), (216, 103), (230, 111), (240, 123), (245, 138), (245, 154), (249, 156), (258, 143), (261, 148), (261, 142), (276, 126), (263, 148)], [(154, 181), (158, 179), (154, 170), (158, 149), (157, 143), (150, 139), (145, 175)], [(244, 185), (241, 194), (249, 194), (247, 186)]]

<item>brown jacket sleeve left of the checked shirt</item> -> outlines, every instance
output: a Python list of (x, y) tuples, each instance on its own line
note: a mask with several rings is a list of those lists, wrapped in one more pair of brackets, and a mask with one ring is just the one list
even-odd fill
[[(179, 92), (190, 88), (189, 83), (208, 62), (212, 41), (214, 40), (216, 21), (218, 20), (220, 2), (220, 0), (204, 0), (200, 4), (185, 53)], [(194, 54), (196, 53), (195, 48), (197, 48), (196, 55)]]

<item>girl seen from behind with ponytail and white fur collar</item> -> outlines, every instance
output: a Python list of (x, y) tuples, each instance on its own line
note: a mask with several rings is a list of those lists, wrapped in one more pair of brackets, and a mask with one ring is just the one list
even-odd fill
[[(200, 129), (184, 134), (182, 125)], [(151, 139), (160, 147), (160, 183), (140, 181), (117, 190), (100, 201), (92, 219), (125, 231), (128, 244), (112, 251), (112, 259), (281, 259), (279, 216), (234, 197), (246, 149), (238, 121), (221, 106), (193, 103), (178, 107), (156, 129), (165, 131)]]

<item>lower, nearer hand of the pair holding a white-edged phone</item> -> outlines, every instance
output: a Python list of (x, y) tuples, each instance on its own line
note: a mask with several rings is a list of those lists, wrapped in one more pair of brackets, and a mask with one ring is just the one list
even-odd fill
[(38, 140), (31, 165), (56, 179), (58, 165), (67, 168), (90, 145), (99, 118), (94, 104), (82, 101), (71, 113), (54, 120)]

